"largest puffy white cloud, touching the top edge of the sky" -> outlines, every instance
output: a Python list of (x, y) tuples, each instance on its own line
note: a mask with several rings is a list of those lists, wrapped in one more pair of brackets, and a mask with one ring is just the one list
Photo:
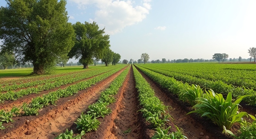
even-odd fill
[(72, 0), (79, 4), (95, 5), (95, 17), (90, 21), (95, 21), (100, 27), (105, 27), (107, 34), (119, 33), (126, 26), (141, 22), (149, 14), (151, 9), (150, 0), (141, 1), (141, 5), (136, 5), (131, 0)]

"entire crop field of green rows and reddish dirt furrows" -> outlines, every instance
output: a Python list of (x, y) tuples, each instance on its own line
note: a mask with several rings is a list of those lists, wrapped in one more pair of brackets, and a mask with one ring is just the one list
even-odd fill
[(29, 70), (0, 78), (1, 139), (256, 138), (255, 64)]

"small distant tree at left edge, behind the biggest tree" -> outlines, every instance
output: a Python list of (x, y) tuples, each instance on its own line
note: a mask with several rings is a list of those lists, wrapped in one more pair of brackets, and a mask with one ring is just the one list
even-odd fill
[(11, 52), (0, 52), (0, 65), (7, 69), (8, 66), (15, 64), (15, 56)]

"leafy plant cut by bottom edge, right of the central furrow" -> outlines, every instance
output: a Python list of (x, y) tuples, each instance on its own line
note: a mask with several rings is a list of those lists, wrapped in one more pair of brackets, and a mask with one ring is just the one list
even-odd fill
[(156, 128), (156, 133), (151, 139), (188, 139), (183, 135), (183, 132), (176, 126), (177, 131), (168, 134), (171, 126), (167, 129)]

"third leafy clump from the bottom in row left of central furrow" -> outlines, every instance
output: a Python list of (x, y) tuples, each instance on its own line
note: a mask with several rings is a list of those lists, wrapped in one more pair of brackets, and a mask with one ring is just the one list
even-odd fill
[(88, 106), (87, 113), (94, 115), (95, 118), (105, 117), (111, 113), (111, 109), (107, 108), (106, 102), (97, 102)]

